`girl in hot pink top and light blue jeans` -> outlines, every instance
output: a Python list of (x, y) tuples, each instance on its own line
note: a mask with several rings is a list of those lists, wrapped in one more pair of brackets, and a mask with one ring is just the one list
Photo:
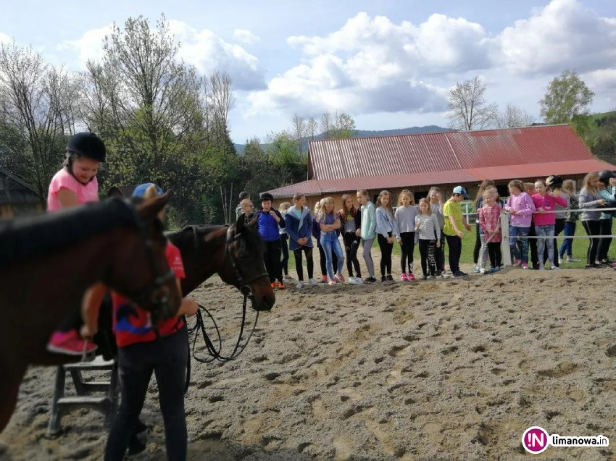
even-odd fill
[[(539, 270), (545, 270), (543, 263), (543, 250), (546, 241), (548, 244), (548, 260), (552, 270), (557, 269), (554, 265), (554, 225), (556, 224), (556, 204), (567, 206), (567, 201), (557, 191), (546, 191), (545, 182), (541, 179), (535, 181), (533, 203), (535, 204), (535, 231), (537, 232), (537, 252), (539, 254)], [(542, 238), (545, 237), (545, 238)]]

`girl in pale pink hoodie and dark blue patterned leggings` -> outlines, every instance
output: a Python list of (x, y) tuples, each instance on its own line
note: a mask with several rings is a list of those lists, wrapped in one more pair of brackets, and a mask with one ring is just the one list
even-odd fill
[(509, 248), (513, 254), (514, 266), (522, 265), (529, 268), (529, 239), (530, 221), (535, 212), (535, 204), (530, 195), (524, 191), (524, 183), (514, 179), (509, 182), (509, 199), (505, 204), (505, 211), (511, 215), (509, 222)]

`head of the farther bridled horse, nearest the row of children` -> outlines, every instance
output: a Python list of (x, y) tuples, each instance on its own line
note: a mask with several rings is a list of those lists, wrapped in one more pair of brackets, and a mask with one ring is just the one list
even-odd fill
[(263, 260), (264, 244), (255, 223), (241, 214), (227, 229), (225, 271), (221, 278), (249, 297), (253, 309), (267, 311), (274, 307), (276, 296), (270, 285)]

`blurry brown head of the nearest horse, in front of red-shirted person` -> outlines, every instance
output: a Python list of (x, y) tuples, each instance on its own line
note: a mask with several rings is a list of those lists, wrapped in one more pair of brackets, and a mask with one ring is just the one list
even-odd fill
[(168, 199), (169, 192), (136, 201), (136, 226), (118, 230), (125, 235), (120, 247), (114, 249), (119, 256), (106, 280), (118, 292), (152, 313), (153, 321), (174, 317), (182, 302), (176, 277), (167, 262), (163, 223), (158, 218)]

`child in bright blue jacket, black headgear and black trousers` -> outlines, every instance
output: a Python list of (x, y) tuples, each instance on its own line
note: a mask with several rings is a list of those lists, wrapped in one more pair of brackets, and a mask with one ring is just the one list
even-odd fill
[(257, 231), (265, 243), (263, 259), (265, 269), (270, 276), (272, 288), (284, 289), (282, 281), (282, 249), (280, 247), (280, 228), (285, 228), (285, 220), (282, 214), (274, 207), (272, 194), (261, 194), (261, 210), (254, 214), (253, 222), (256, 222)]

